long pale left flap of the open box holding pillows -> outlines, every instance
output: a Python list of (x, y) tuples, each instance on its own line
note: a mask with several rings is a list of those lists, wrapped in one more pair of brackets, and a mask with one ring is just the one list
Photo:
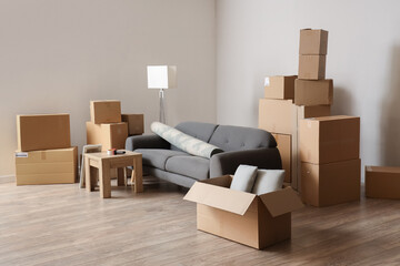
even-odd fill
[(183, 200), (244, 215), (257, 195), (196, 182)]

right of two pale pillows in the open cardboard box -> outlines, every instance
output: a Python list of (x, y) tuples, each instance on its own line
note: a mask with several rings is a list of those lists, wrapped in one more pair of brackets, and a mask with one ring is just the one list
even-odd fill
[(269, 192), (279, 191), (282, 188), (284, 180), (284, 170), (259, 170), (252, 193), (262, 195)]

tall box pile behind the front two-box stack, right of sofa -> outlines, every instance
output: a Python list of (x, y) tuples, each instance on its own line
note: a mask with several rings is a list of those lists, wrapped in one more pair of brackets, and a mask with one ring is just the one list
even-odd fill
[(324, 79), (328, 32), (300, 31), (299, 75), (269, 76), (259, 103), (259, 127), (277, 140), (286, 182), (301, 190), (299, 121), (328, 116), (333, 98), (332, 80)]

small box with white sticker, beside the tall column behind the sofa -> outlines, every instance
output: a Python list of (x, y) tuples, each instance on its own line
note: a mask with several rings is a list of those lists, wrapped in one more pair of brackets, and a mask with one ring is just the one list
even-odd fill
[(264, 95), (267, 99), (294, 99), (294, 80), (297, 75), (267, 76), (264, 81)]

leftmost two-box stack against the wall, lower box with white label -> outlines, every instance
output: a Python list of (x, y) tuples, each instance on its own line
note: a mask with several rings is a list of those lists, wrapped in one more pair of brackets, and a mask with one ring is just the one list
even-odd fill
[(17, 115), (17, 185), (74, 183), (78, 150), (69, 114)]

